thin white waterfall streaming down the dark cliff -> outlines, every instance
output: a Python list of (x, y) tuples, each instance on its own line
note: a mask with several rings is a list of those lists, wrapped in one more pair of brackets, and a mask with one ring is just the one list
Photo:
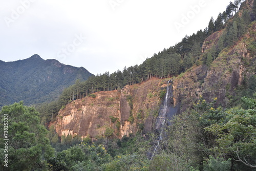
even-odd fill
[(170, 97), (170, 94), (171, 94), (170, 92), (172, 89), (172, 86), (169, 86), (169, 83), (172, 83), (172, 80), (168, 80), (168, 82), (167, 82), (166, 94), (165, 94), (165, 98), (163, 101), (163, 105), (160, 107), (158, 117), (156, 120), (156, 130), (160, 133), (160, 135), (159, 135), (159, 139), (157, 140), (157, 145), (156, 145), (154, 152), (151, 156), (151, 160), (157, 151), (157, 148), (159, 146), (161, 139), (163, 138), (164, 125), (165, 125), (167, 112), (168, 112), (168, 99)]

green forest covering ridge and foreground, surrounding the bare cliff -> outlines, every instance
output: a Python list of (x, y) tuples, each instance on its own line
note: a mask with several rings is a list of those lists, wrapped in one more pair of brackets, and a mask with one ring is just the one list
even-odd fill
[[(62, 136), (60, 141), (54, 125), (49, 124), (65, 105), (85, 96), (93, 97), (95, 92), (122, 89), (152, 77), (182, 77), (182, 73), (193, 66), (210, 67), (223, 49), (236, 45), (248, 28), (255, 24), (256, 1), (253, 1), (252, 10), (243, 9), (243, 6), (245, 3), (241, 0), (230, 2), (226, 11), (220, 13), (216, 20), (210, 19), (204, 31), (185, 36), (181, 42), (146, 59), (140, 66), (124, 67), (123, 71), (118, 70), (112, 74), (105, 72), (86, 81), (78, 79), (73, 86), (62, 92), (57, 101), (36, 108), (27, 107), (23, 102), (4, 106), (1, 115), (7, 114), (10, 118), (9, 167), (1, 163), (1, 169), (255, 170), (254, 81), (250, 82), (249, 88), (240, 88), (240, 92), (243, 92), (239, 94), (242, 103), (233, 103), (226, 109), (216, 103), (217, 98), (207, 102), (200, 96), (196, 104), (176, 115), (172, 124), (165, 127), (160, 150), (154, 158), (151, 158), (152, 147), (157, 144), (158, 136), (154, 133), (143, 137), (141, 131), (138, 131), (121, 139), (111, 139), (108, 136), (111, 130), (106, 130), (105, 135), (97, 139), (68, 135)], [(239, 7), (243, 10), (239, 11)], [(202, 51), (209, 44), (205, 39), (215, 32), (222, 32), (218, 44)], [(247, 49), (255, 57), (255, 40)], [(49, 130), (44, 125), (49, 126)], [(0, 126), (4, 130), (4, 119)], [(0, 147), (0, 154), (4, 156), (4, 143)]]

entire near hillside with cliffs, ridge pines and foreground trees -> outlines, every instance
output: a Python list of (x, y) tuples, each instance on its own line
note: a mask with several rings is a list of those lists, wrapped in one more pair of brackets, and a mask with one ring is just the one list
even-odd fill
[[(204, 31), (142, 65), (77, 80), (37, 106), (41, 120), (22, 102), (4, 106), (13, 118), (9, 170), (255, 170), (255, 19), (256, 1), (230, 2)], [(168, 103), (179, 110), (159, 139), (154, 123), (169, 79)], [(39, 121), (49, 126), (40, 142)]]

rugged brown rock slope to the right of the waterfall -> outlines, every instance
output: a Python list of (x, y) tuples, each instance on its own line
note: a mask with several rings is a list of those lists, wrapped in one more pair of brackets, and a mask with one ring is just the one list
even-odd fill
[[(239, 88), (250, 87), (250, 83), (255, 81), (256, 74), (255, 52), (250, 49), (256, 39), (255, 28), (254, 22), (244, 37), (236, 45), (225, 48), (210, 66), (193, 67), (174, 79), (174, 102), (181, 104), (181, 112), (193, 106), (200, 95), (207, 101), (217, 97), (216, 105), (223, 107), (232, 105)], [(208, 37), (213, 39), (211, 43), (206, 43), (208, 39), (205, 40), (203, 46), (205, 53), (217, 44), (220, 33)]]

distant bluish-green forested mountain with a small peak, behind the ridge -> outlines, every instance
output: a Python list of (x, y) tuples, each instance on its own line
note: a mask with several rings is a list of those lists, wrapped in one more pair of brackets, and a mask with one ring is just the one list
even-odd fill
[(35, 54), (24, 60), (0, 60), (0, 106), (23, 100), (26, 105), (50, 102), (77, 79), (92, 76), (83, 67), (64, 65)]

